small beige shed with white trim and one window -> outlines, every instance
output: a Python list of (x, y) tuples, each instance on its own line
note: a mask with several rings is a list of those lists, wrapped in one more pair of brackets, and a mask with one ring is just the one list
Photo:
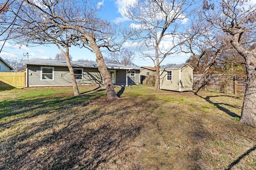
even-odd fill
[(160, 89), (189, 91), (193, 86), (193, 70), (190, 64), (177, 64), (160, 69)]

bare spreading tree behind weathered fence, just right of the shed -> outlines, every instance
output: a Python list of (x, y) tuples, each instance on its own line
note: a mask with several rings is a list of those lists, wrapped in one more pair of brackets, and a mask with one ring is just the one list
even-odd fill
[(183, 52), (191, 53), (188, 63), (194, 67), (196, 74), (206, 74), (210, 68), (217, 64), (224, 48), (224, 36), (210, 24), (194, 16), (194, 21), (186, 32), (180, 35), (181, 39), (186, 39), (180, 44)]

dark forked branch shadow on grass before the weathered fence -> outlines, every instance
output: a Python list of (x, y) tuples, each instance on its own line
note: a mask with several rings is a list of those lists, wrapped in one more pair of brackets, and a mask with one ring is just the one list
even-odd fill
[[(232, 117), (241, 117), (240, 115), (237, 115), (236, 113), (230, 111), (229, 109), (225, 108), (225, 107), (222, 107), (221, 105), (224, 104), (224, 103), (218, 103), (218, 102), (213, 102), (211, 101), (210, 98), (214, 98), (214, 97), (220, 97), (220, 96), (225, 96), (225, 97), (232, 97), (232, 96), (228, 96), (228, 95), (220, 95), (220, 96), (206, 96), (205, 98), (203, 96), (200, 96), (198, 94), (198, 91), (197, 92), (194, 92), (194, 94), (204, 100), (206, 100), (206, 102), (210, 103), (210, 104), (213, 104), (214, 106), (216, 106), (218, 109), (224, 111), (225, 113), (227, 113), (228, 115), (232, 116)], [(233, 98), (233, 97), (232, 97)], [(230, 104), (224, 104), (226, 106), (229, 106), (229, 107), (237, 107), (237, 106), (233, 106), (233, 105), (230, 105)]]

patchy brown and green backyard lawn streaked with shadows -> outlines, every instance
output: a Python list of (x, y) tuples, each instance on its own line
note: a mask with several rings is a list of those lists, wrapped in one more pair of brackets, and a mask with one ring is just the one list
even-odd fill
[(243, 96), (133, 86), (0, 92), (0, 169), (253, 170)]

